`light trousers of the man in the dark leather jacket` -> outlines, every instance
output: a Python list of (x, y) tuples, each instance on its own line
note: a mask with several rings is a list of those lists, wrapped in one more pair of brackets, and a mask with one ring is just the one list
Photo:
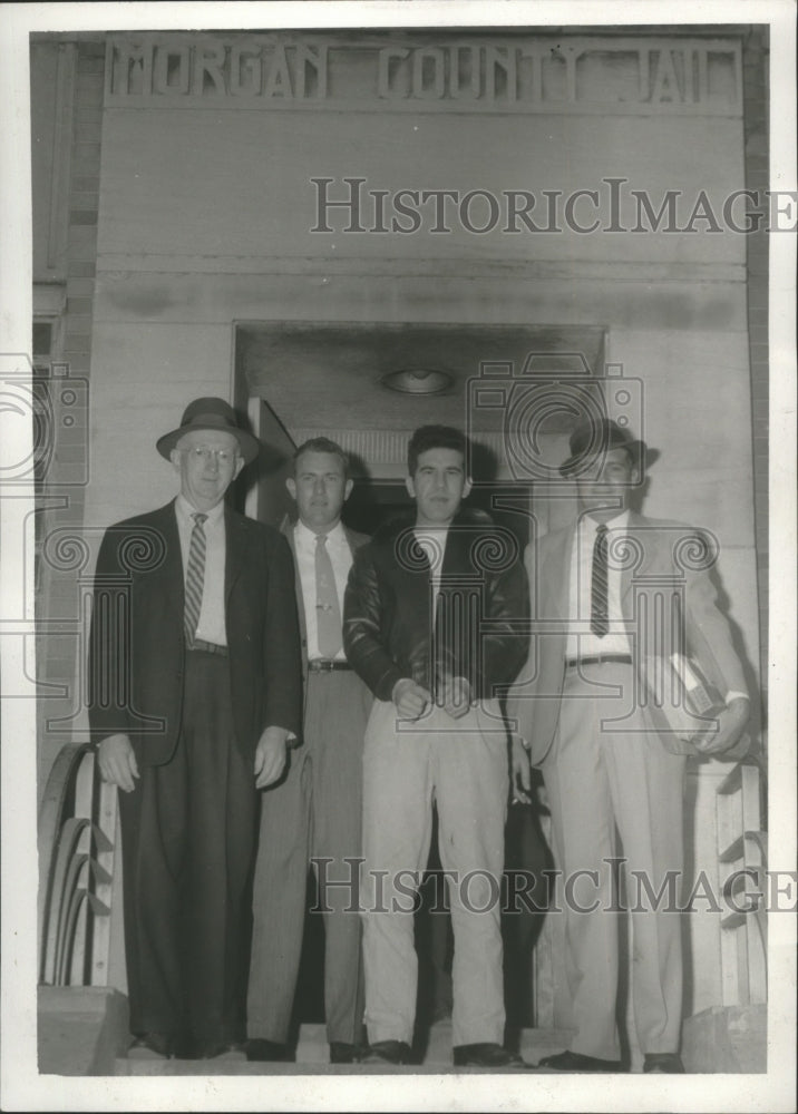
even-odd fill
[(417, 885), (411, 874), (420, 876), (427, 866), (434, 800), (441, 866), (456, 872), (455, 885), (449, 881), (452, 1040), (503, 1040), (499, 892), (507, 790), (507, 736), (495, 701), (460, 720), (434, 709), (417, 724), (398, 723), (392, 703), (374, 701), (363, 753), (361, 870), (366, 1024), (372, 1044), (412, 1040), (418, 960), (408, 890)]

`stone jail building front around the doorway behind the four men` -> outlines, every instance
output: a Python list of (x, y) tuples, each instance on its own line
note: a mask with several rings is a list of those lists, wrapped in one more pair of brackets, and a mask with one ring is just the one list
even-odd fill
[[(64, 629), (40, 639), (40, 675), (67, 687), (41, 702), (42, 776), (86, 727), (80, 607), (101, 531), (174, 494), (155, 438), (191, 398), (236, 399), (241, 322), (603, 329), (605, 362), (641, 383), (631, 424), (661, 452), (646, 512), (719, 539), (719, 587), (759, 692), (767, 309), (760, 241), (729, 227), (723, 211), (730, 194), (762, 185), (766, 50), (761, 35), (739, 28), (556, 41), (487, 31), (126, 33), (35, 46), (40, 88), (55, 81), (72, 106), (72, 143), (59, 156), (69, 203), (52, 217), (66, 236), (38, 244), (36, 278), (65, 287), (56, 354), (89, 382), (88, 482), (42, 519), (42, 539), (77, 530), (86, 545), (78, 560), (42, 550), (40, 614)], [(42, 135), (48, 113), (62, 110), (42, 97)], [(362, 179), (357, 214), (328, 207), (321, 218), (322, 178), (337, 202), (351, 197), (346, 179)], [(499, 198), (499, 218), (492, 224), (481, 196), (446, 211), (450, 232), (432, 231), (442, 218), (427, 206), (416, 232), (383, 233), (391, 211), (376, 206), (400, 188), (478, 190)], [(374, 190), (387, 192), (382, 203)], [(508, 190), (536, 196), (529, 216), (541, 231), (517, 216)], [(577, 190), (597, 201), (577, 201)], [(655, 211), (678, 190), (673, 227), (652, 227), (632, 190)], [(546, 207), (554, 192), (556, 221)], [(53, 185), (51, 206), (56, 195)], [(593, 221), (594, 232), (576, 231)], [(332, 231), (313, 231), (325, 224)], [(476, 352), (463, 373), (505, 356), (500, 345)], [(280, 377), (261, 368), (246, 382), (280, 417), (289, 403)], [(463, 405), (452, 404), (460, 423)], [(425, 420), (415, 399), (393, 412), (395, 432)], [(380, 428), (379, 411), (331, 427), (313, 395), (286, 430), (346, 441)], [(376, 478), (396, 475), (391, 451), (373, 463)], [(58, 716), (67, 720), (48, 730)], [(726, 772), (718, 763), (691, 773), (697, 870), (716, 868), (714, 789)], [(720, 1001), (719, 931), (714, 917), (692, 919), (689, 1013)]]

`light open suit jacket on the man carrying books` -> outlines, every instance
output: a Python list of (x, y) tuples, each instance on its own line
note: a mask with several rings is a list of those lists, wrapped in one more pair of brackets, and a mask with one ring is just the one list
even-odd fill
[[(717, 607), (708, 568), (701, 567), (707, 563), (699, 531), (632, 511), (627, 535), (632, 541), (623, 559), (621, 606), (633, 659), (644, 668), (653, 656), (687, 651), (721, 695), (729, 690), (745, 692), (728, 619)], [(574, 537), (574, 526), (547, 534), (531, 543), (524, 556), (532, 594), (529, 653), (508, 700), (507, 716), (510, 725), (517, 721), (518, 734), (529, 743), (535, 764), (548, 753), (559, 717)], [(675, 626), (656, 623), (658, 608), (671, 606), (674, 590), (679, 597)], [(659, 726), (656, 721), (654, 726)], [(662, 741), (668, 750), (694, 753), (672, 733), (663, 734)]]

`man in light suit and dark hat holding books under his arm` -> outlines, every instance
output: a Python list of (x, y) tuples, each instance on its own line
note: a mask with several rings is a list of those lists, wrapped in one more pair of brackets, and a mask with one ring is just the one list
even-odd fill
[[(646, 456), (650, 462), (645, 444), (610, 419), (578, 424), (559, 468), (576, 485), (576, 522), (526, 554), (529, 656), (507, 715), (517, 725), (516, 792), (527, 797), (529, 765), (539, 765), (564, 876), (575, 1033), (570, 1049), (538, 1065), (556, 1072), (622, 1069), (613, 859), (622, 857), (627, 879), (644, 879), (654, 897), (663, 886), (670, 892), (669, 878), (683, 870), (685, 755), (728, 753), (748, 719), (742, 666), (709, 576), (717, 551), (701, 531), (630, 508)], [(673, 662), (682, 671), (690, 662), (718, 695), (714, 722), (693, 717), (691, 739), (651, 695), (658, 671)], [(643, 1071), (678, 1073), (681, 925), (671, 899), (658, 903), (648, 887), (639, 882), (631, 903), (635, 1028)]]

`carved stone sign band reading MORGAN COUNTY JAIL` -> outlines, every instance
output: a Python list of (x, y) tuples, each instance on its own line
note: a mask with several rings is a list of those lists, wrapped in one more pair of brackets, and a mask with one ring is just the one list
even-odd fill
[[(106, 105), (740, 116), (741, 47), (688, 37), (110, 36)], [(353, 61), (354, 59), (354, 61)]]

